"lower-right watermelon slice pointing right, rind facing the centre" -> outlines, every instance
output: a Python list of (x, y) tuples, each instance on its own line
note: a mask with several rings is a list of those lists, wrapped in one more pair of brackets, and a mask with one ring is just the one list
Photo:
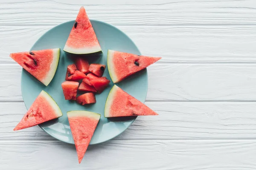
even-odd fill
[(117, 85), (108, 94), (105, 117), (158, 115)]

